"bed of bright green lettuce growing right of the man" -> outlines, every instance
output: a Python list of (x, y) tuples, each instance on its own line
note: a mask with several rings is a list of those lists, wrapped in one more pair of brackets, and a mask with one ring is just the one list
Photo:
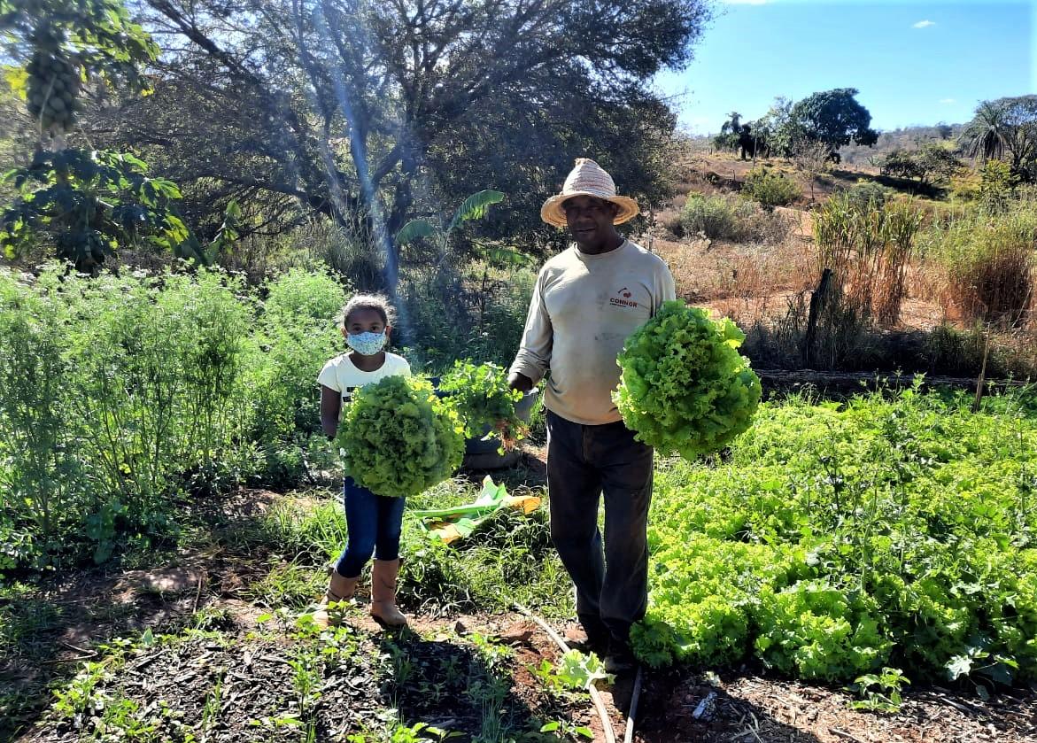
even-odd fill
[(1037, 678), (1034, 400), (971, 403), (769, 404), (723, 461), (662, 463), (639, 655), (980, 693)]

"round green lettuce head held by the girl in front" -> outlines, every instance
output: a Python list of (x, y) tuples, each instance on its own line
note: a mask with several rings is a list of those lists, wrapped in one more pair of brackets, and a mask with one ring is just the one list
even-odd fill
[(345, 471), (377, 495), (412, 496), (453, 475), (465, 453), (453, 406), (415, 377), (387, 377), (356, 391), (336, 443)]

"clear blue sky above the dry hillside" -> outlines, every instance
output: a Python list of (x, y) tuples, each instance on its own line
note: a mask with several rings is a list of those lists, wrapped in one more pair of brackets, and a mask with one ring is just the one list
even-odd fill
[(1035, 4), (1020, 0), (727, 0), (683, 71), (655, 86), (694, 134), (854, 87), (875, 129), (968, 121), (979, 101), (1037, 92)]

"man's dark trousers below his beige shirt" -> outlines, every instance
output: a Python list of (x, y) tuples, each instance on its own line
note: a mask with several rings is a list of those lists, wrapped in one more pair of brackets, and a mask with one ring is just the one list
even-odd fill
[[(652, 448), (622, 421), (584, 425), (548, 411), (551, 539), (592, 639), (626, 642), (648, 604)], [(605, 494), (605, 551), (597, 506)]]

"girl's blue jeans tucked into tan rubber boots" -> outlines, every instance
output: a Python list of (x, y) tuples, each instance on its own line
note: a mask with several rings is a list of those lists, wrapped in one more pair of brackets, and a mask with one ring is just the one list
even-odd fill
[(407, 498), (375, 495), (346, 477), (342, 481), (345, 504), (345, 549), (335, 563), (335, 571), (345, 578), (356, 578), (374, 553), (376, 559), (399, 557), (399, 534), (403, 525)]

